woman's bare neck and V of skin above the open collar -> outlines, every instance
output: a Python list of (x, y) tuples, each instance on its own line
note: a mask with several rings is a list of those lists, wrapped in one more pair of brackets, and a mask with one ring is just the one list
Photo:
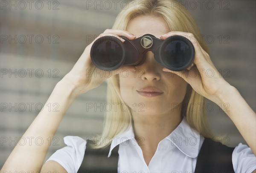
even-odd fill
[(180, 124), (181, 112), (180, 109), (177, 110), (154, 116), (132, 112), (134, 136), (147, 165), (154, 156), (158, 143)]

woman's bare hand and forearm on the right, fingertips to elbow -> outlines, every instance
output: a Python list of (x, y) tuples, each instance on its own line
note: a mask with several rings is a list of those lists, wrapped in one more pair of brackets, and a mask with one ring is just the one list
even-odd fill
[[(256, 155), (256, 114), (241, 96), (239, 91), (231, 86), (219, 74), (213, 65), (209, 54), (195, 40), (193, 34), (186, 32), (172, 31), (161, 37), (165, 40), (172, 35), (181, 35), (190, 40), (195, 47), (194, 66), (183, 71), (171, 71), (163, 68), (163, 71), (172, 72), (182, 77), (191, 87), (202, 96), (215, 102), (216, 104), (229, 104), (229, 110), (225, 111), (236, 125), (244, 140)], [(207, 73), (208, 72), (208, 73)], [(253, 172), (255, 172), (254, 170)]]

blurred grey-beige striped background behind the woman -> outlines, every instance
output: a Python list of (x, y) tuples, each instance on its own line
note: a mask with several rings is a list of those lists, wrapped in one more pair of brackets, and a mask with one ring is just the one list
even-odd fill
[[(0, 1), (0, 167), (57, 82), (73, 68), (84, 48), (112, 27), (127, 2)], [(179, 2), (195, 18), (216, 68), (255, 111), (256, 1)], [(106, 83), (103, 83), (74, 101), (55, 133), (46, 159), (66, 146), (64, 136), (86, 139), (102, 132), (104, 109), (87, 106), (104, 105), (105, 97)], [(227, 136), (226, 144), (230, 146), (246, 143), (218, 105), (208, 100), (207, 106), (209, 124), (216, 135)]]

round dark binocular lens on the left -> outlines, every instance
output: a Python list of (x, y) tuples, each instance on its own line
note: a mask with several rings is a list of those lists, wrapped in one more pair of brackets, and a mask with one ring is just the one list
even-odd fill
[(92, 48), (94, 64), (103, 70), (113, 69), (122, 64), (124, 48), (121, 44), (121, 41), (119, 43), (117, 39), (113, 40), (113, 37), (102, 37), (96, 40)]

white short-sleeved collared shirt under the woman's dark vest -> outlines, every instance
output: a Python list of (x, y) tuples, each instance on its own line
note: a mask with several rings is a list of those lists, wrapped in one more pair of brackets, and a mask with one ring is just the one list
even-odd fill
[[(169, 136), (159, 142), (147, 166), (131, 126), (114, 138), (108, 156), (119, 145), (119, 173), (194, 173), (203, 141), (204, 138), (184, 118)], [(84, 158), (86, 141), (79, 136), (65, 136), (64, 142), (67, 146), (57, 150), (48, 160), (58, 162), (68, 173), (77, 173)], [(141, 142), (143, 144), (143, 139)], [(241, 143), (233, 151), (232, 162), (236, 173), (251, 173), (256, 169), (252, 150)]]

